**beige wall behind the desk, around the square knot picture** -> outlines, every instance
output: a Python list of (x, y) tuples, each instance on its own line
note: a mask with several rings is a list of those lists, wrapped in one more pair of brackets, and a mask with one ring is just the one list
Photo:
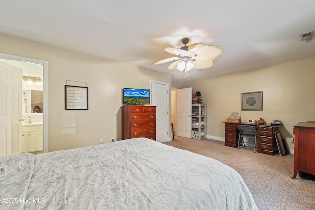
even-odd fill
[[(178, 88), (192, 87), (200, 91), (207, 104), (207, 135), (224, 141), (224, 124), (230, 111), (241, 111), (241, 93), (263, 91), (263, 111), (241, 111), (242, 121), (267, 123), (281, 120), (290, 150), (294, 144), (293, 126), (298, 122), (315, 121), (315, 58), (292, 61), (264, 68), (204, 79)], [(211, 71), (211, 69), (209, 69)], [(176, 87), (173, 82), (173, 87)]]

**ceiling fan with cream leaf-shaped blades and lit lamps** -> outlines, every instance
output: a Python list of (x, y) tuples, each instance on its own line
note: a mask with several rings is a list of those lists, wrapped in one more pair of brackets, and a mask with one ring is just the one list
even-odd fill
[(222, 53), (222, 49), (217, 46), (195, 43), (189, 46), (188, 38), (182, 39), (183, 47), (166, 47), (165, 52), (175, 54), (178, 57), (170, 57), (152, 63), (152, 65), (163, 64), (175, 61), (168, 66), (171, 71), (190, 71), (192, 69), (207, 69), (214, 65), (213, 60)]

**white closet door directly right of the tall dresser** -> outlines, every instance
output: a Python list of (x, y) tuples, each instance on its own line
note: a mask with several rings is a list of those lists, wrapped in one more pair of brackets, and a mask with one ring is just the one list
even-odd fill
[(156, 141), (168, 138), (168, 83), (151, 81), (151, 105), (156, 106)]

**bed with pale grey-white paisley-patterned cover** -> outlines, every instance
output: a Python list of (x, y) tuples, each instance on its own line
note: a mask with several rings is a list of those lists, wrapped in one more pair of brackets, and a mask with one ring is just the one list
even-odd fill
[(0, 209), (255, 210), (221, 162), (147, 138), (0, 157)]

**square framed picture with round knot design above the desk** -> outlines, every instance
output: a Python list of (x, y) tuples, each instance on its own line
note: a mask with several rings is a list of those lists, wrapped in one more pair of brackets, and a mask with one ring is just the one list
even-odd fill
[(241, 93), (241, 110), (262, 110), (262, 91)]

